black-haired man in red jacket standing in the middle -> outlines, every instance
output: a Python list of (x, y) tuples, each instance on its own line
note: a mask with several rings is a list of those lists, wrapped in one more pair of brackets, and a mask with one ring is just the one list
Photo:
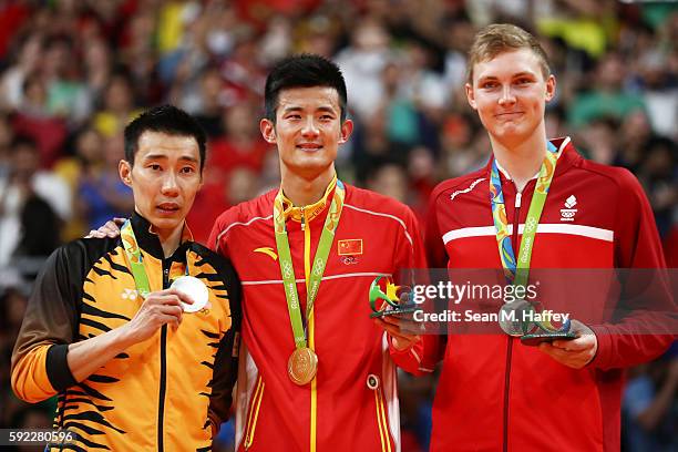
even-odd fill
[[(243, 282), (236, 448), (398, 451), (396, 367), (383, 330), (370, 319), (368, 294), (379, 276), (398, 279), (401, 269), (425, 267), (414, 215), (394, 199), (337, 179), (337, 148), (352, 123), (333, 63), (315, 55), (284, 60), (268, 76), (266, 106), (260, 129), (278, 147), (280, 188), (225, 212), (209, 238), (210, 247), (230, 257)], [(321, 255), (322, 230), (335, 225), (326, 219), (339, 191), (341, 214), (308, 312), (310, 274)], [(282, 213), (280, 223), (274, 205)], [(296, 339), (279, 228), (289, 240), (302, 336), (318, 357), (315, 378), (301, 384), (288, 374)]]

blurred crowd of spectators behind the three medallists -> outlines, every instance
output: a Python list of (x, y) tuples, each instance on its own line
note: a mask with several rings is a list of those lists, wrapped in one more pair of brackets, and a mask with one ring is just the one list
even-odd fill
[[(464, 82), (465, 52), (490, 22), (541, 38), (557, 78), (547, 135), (637, 175), (678, 267), (676, 2), (0, 0), (0, 428), (49, 423), (49, 402), (11, 396), (9, 356), (44, 257), (133, 208), (117, 177), (131, 117), (173, 103), (207, 131), (205, 187), (188, 218), (205, 242), (219, 213), (278, 184), (276, 151), (258, 130), (267, 70), (289, 53), (323, 54), (343, 71), (356, 122), (340, 177), (425, 222), (435, 184), (489, 157)], [(675, 434), (655, 434), (678, 419), (674, 355), (633, 374), (629, 450), (677, 446)], [(427, 450), (433, 387), (402, 379), (404, 451)], [(659, 449), (637, 449), (649, 443)]]

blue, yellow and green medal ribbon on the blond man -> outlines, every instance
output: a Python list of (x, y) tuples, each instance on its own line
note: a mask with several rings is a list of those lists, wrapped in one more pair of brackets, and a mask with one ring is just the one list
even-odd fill
[(534, 249), (534, 236), (536, 235), (537, 225), (540, 224), (544, 204), (546, 203), (546, 196), (548, 195), (548, 188), (551, 187), (555, 167), (561, 156), (561, 151), (551, 142), (547, 142), (546, 150), (547, 152), (544, 156), (544, 162), (542, 162), (542, 168), (540, 170), (532, 202), (530, 203), (530, 210), (527, 210), (517, 261), (515, 259), (513, 245), (511, 244), (506, 206), (504, 205), (504, 194), (502, 191), (502, 181), (499, 175), (499, 167), (496, 166), (496, 158), (492, 161), (490, 201), (492, 204), (494, 229), (496, 232), (496, 244), (506, 281), (515, 286), (525, 287), (527, 284), (530, 260), (532, 259), (532, 250)]

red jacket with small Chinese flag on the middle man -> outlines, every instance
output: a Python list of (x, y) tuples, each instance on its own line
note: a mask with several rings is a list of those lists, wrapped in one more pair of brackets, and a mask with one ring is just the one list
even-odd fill
[[(287, 374), (287, 360), (295, 343), (274, 254), (271, 214), (276, 193), (271, 191), (219, 216), (209, 246), (233, 260), (243, 281), (243, 340), (253, 360), (247, 376), (238, 377), (239, 390), (251, 389), (238, 396), (243, 423), (253, 411), (255, 386), (249, 382), (257, 374), (264, 381), (258, 414), (251, 417), (256, 418), (256, 430), (248, 450), (308, 451), (311, 391), (308, 386), (292, 383)], [(317, 250), (327, 210), (306, 225), (310, 230), (310, 256)], [(287, 232), (304, 312), (306, 286), (300, 281), (305, 278), (305, 232), (295, 220), (287, 222)], [(358, 239), (362, 239), (361, 255), (339, 254), (340, 240)], [(370, 319), (368, 292), (378, 275), (398, 275), (400, 268), (422, 266), (423, 247), (412, 212), (391, 198), (347, 186), (346, 204), (312, 314), (319, 359), (318, 451), (377, 451), (382, 450), (382, 439), (387, 438), (394, 450), (399, 441), (396, 369), (384, 349), (383, 331)], [(370, 374), (377, 377), (377, 389), (368, 387)], [(389, 422), (388, 436), (379, 428), (378, 400), (382, 400), (382, 412)], [(244, 434), (236, 432), (236, 438)], [(243, 446), (240, 442), (236, 449)]]

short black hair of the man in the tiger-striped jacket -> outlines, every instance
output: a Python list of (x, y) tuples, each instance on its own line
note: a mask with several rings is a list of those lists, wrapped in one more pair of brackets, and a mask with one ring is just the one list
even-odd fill
[(193, 136), (201, 153), (201, 173), (205, 166), (207, 136), (201, 124), (182, 109), (174, 105), (154, 106), (140, 114), (125, 127), (125, 160), (134, 166), (138, 151), (138, 138), (144, 132), (160, 132), (173, 136)]

